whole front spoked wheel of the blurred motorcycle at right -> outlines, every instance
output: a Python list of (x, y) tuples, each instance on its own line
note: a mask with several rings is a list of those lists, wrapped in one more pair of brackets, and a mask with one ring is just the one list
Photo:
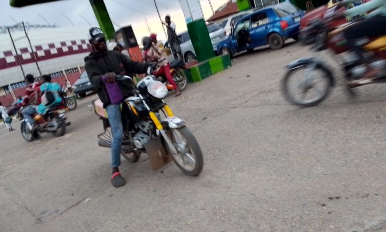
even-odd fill
[(290, 70), (283, 79), (283, 92), (288, 101), (295, 105), (310, 107), (322, 102), (329, 94), (332, 79), (330, 72), (316, 66)]

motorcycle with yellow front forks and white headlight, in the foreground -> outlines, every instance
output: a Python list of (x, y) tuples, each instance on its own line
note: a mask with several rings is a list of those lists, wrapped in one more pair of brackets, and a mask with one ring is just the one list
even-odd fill
[[(151, 68), (147, 70), (147, 74), (150, 72)], [(117, 80), (133, 83), (131, 77), (127, 76), (117, 76)], [(204, 164), (201, 149), (185, 126), (185, 121), (174, 116), (162, 100), (168, 93), (166, 86), (149, 75), (139, 81), (137, 86), (132, 84), (130, 91), (131, 96), (122, 103), (124, 139), (121, 155), (129, 162), (136, 162), (141, 153), (146, 153), (153, 170), (173, 159), (185, 174), (197, 176)], [(112, 136), (107, 113), (99, 99), (93, 105), (104, 129), (97, 136), (98, 145), (111, 148)]]

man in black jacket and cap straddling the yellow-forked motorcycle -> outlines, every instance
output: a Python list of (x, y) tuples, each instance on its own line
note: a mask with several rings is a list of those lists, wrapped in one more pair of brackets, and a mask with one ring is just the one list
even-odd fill
[(134, 62), (118, 51), (107, 50), (104, 34), (99, 28), (91, 28), (88, 37), (93, 51), (85, 57), (85, 69), (91, 84), (97, 89), (98, 97), (108, 115), (113, 137), (111, 143), (111, 183), (115, 188), (118, 188), (126, 184), (118, 169), (121, 164), (123, 140), (120, 106), (124, 96), (115, 76), (130, 73), (143, 74), (146, 73), (148, 65)]

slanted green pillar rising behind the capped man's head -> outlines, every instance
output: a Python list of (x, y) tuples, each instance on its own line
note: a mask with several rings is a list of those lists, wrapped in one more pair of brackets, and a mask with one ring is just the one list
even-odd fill
[(95, 16), (97, 17), (100, 29), (102, 29), (107, 39), (114, 39), (114, 26), (112, 25), (110, 16), (108, 15), (103, 0), (90, 0), (90, 3), (93, 7)]

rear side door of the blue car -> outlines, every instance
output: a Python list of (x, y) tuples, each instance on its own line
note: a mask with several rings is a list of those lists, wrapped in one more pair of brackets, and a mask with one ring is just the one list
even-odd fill
[(270, 19), (266, 12), (258, 12), (251, 16), (250, 37), (253, 47), (266, 44), (267, 35), (271, 28)]

